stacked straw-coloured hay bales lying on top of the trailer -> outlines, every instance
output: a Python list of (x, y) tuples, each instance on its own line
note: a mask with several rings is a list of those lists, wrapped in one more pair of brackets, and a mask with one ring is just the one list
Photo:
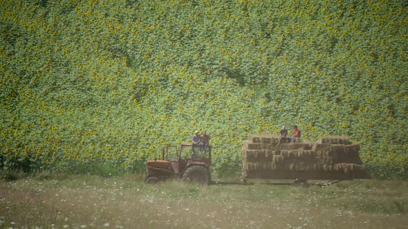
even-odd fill
[(251, 135), (243, 142), (243, 170), (363, 171), (360, 146), (349, 137), (323, 137), (319, 142), (279, 143), (277, 135)]

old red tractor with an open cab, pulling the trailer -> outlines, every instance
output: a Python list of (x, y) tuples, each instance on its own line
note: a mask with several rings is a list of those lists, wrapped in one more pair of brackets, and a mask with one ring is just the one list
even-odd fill
[(192, 143), (165, 146), (161, 159), (149, 160), (146, 166), (145, 182), (149, 184), (178, 179), (210, 185), (211, 146), (192, 146)]

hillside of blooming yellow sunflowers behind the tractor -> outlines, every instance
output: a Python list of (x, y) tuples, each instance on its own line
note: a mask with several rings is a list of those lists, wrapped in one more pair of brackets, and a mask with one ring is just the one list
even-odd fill
[(297, 124), (407, 178), (406, 5), (1, 1), (1, 164), (144, 170), (198, 129), (225, 175), (250, 133)]

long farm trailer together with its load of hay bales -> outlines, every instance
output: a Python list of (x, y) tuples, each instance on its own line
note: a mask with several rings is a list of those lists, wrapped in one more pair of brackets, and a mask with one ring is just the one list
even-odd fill
[(358, 154), (360, 145), (349, 137), (300, 140), (288, 143), (277, 135), (251, 135), (243, 141), (243, 183), (248, 179), (286, 179), (295, 184), (369, 179)]

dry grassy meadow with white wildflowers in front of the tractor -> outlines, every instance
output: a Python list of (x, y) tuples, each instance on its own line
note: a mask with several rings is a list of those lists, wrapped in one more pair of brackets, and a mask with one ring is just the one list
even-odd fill
[(50, 175), (0, 181), (0, 228), (407, 228), (407, 181), (328, 187)]

